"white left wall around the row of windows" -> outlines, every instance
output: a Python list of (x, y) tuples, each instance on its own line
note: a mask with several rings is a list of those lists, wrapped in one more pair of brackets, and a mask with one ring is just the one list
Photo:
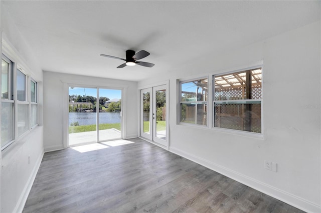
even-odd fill
[[(39, 126), (2, 151), (1, 212), (21, 212), (39, 168), (43, 153), (42, 70), (30, 46), (1, 5), (2, 53), (24, 68), (38, 83)], [(29, 162), (30, 158), (30, 162)]]

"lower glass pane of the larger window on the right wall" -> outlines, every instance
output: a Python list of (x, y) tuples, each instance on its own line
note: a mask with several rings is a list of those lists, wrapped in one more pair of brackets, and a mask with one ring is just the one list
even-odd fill
[(261, 103), (215, 103), (214, 126), (261, 133)]

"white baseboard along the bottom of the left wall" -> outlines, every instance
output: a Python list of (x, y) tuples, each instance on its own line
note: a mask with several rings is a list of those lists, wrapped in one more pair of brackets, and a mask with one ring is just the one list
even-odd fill
[(37, 158), (36, 160), (36, 163), (35, 163), (35, 166), (34, 166), (34, 169), (32, 170), (31, 172), (31, 175), (27, 181), (27, 184), (25, 185), (24, 187), (24, 190), (22, 191), (19, 199), (18, 199), (18, 202), (16, 204), (16, 207), (15, 207), (15, 210), (14, 212), (22, 212), (24, 207), (25, 207), (25, 204), (26, 204), (26, 201), (27, 201), (27, 198), (28, 198), (28, 195), (30, 193), (30, 190), (31, 190), (31, 187), (35, 181), (35, 178), (36, 178), (36, 175), (37, 175), (37, 172), (38, 172), (38, 169), (40, 167), (40, 163), (42, 161), (42, 158), (44, 156), (44, 153), (45, 152), (42, 152), (39, 157)]

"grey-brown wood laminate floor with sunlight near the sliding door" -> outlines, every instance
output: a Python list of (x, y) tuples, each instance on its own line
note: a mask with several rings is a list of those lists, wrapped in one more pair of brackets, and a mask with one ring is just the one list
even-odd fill
[(129, 142), (45, 153), (23, 212), (303, 212), (142, 139)]

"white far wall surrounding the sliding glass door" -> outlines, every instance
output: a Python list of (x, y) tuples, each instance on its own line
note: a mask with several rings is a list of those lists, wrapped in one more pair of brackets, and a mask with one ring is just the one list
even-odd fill
[[(122, 116), (124, 118), (124, 138), (137, 137), (137, 82), (83, 75), (44, 71), (44, 146), (45, 151), (64, 148), (64, 135), (68, 127), (63, 126), (68, 117), (63, 112), (68, 109), (68, 83), (98, 87), (124, 89)], [(65, 104), (66, 103), (66, 104)], [(67, 118), (68, 119), (68, 118)], [(68, 121), (67, 121), (68, 122)]]

